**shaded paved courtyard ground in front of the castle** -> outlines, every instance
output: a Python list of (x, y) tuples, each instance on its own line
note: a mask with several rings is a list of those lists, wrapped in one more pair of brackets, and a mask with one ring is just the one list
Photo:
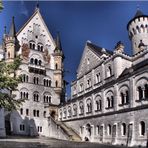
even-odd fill
[(90, 142), (73, 142), (50, 138), (7, 138), (0, 139), (0, 148), (125, 148)]

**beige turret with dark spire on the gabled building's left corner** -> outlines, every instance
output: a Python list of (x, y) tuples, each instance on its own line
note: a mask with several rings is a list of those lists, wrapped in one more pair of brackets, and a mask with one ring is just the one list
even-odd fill
[(7, 62), (11, 62), (16, 57), (16, 52), (19, 50), (20, 45), (19, 41), (16, 37), (16, 29), (14, 23), (14, 17), (12, 17), (12, 24), (10, 27), (9, 34), (5, 34), (4, 36), (4, 48), (5, 48), (5, 60)]

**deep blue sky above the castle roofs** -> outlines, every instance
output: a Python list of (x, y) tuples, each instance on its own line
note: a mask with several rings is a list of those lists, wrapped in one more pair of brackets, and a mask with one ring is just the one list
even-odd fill
[[(4, 1), (0, 13), (0, 40), (3, 28), (9, 30), (11, 18), (15, 16), (17, 31), (34, 12), (36, 1)], [(65, 74), (68, 82), (76, 78), (76, 70), (87, 40), (98, 46), (113, 50), (118, 41), (131, 54), (131, 43), (126, 25), (136, 13), (137, 5), (148, 15), (147, 1), (39, 1), (40, 12), (49, 31), (56, 36), (60, 31), (65, 54)], [(68, 87), (68, 94), (70, 88)]]

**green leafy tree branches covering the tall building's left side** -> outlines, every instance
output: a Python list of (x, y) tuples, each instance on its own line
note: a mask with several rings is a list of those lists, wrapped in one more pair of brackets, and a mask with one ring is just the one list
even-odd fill
[(21, 77), (16, 75), (20, 64), (20, 57), (16, 57), (11, 63), (0, 61), (0, 107), (7, 110), (16, 110), (24, 101), (22, 99), (16, 100), (12, 93), (17, 91), (18, 83), (21, 81)]

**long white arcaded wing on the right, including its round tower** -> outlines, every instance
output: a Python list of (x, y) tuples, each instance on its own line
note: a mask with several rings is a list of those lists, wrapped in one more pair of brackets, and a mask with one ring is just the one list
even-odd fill
[(140, 10), (128, 23), (133, 55), (118, 42), (114, 51), (87, 42), (71, 83), (71, 100), (59, 120), (82, 140), (146, 145), (148, 139), (148, 16)]

